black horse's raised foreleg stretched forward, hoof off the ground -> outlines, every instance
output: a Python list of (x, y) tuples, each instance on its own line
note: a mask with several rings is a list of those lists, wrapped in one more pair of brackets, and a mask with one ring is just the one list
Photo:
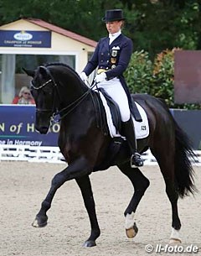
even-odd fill
[(33, 227), (45, 227), (47, 225), (48, 217), (46, 212), (48, 212), (49, 208), (51, 207), (51, 203), (56, 191), (61, 185), (64, 184), (65, 181), (76, 179), (79, 176), (86, 175), (89, 172), (90, 166), (87, 164), (87, 161), (84, 158), (80, 158), (55, 175), (52, 180), (49, 193), (42, 202), (39, 213), (32, 224)]

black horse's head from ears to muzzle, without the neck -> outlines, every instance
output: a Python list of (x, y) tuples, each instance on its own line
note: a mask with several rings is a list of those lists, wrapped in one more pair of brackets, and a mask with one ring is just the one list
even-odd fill
[(30, 91), (36, 103), (35, 128), (39, 133), (46, 134), (49, 131), (51, 118), (58, 107), (57, 84), (45, 66), (39, 66), (37, 70), (23, 68), (23, 71), (33, 77)]

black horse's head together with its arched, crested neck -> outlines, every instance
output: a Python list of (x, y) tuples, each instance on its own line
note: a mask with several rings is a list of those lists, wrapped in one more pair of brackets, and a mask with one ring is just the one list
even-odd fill
[(48, 133), (54, 114), (64, 118), (89, 93), (89, 88), (69, 65), (52, 63), (36, 70), (23, 68), (23, 71), (33, 77), (30, 90), (36, 103), (35, 128), (39, 133)]

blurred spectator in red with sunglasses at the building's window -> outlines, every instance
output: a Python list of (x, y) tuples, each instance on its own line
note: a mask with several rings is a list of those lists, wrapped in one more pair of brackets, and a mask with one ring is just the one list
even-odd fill
[(13, 104), (35, 104), (31, 92), (27, 86), (23, 86), (17, 97), (13, 98)]

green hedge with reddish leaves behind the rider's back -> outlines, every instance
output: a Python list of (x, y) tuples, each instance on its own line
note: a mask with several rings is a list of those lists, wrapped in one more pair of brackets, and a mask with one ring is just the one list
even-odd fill
[(125, 71), (131, 93), (148, 93), (163, 98), (168, 107), (201, 109), (199, 104), (177, 105), (173, 99), (174, 51), (163, 50), (151, 60), (146, 51), (136, 51)]

